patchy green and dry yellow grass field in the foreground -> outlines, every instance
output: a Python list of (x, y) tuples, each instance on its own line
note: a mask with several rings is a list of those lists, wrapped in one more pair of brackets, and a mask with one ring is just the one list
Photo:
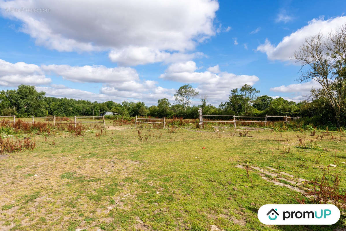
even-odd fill
[(32, 135), (35, 149), (0, 154), (0, 230), (345, 228), (345, 212), (331, 226), (257, 219), (264, 204), (312, 203), (273, 182), (304, 190), (302, 179), (327, 173), (339, 175), (346, 189), (346, 137), (340, 132), (256, 129), (241, 137), (239, 131), (248, 130), (241, 126), (215, 132), (194, 124), (166, 130), (107, 125), (102, 133), (89, 129), (78, 137)]

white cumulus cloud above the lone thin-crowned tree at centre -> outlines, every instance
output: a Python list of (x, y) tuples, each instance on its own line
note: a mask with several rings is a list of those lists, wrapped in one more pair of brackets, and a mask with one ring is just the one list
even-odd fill
[(196, 90), (200, 94), (208, 95), (208, 101), (212, 104), (227, 100), (232, 89), (242, 87), (244, 84), (254, 85), (259, 80), (255, 75), (220, 72), (217, 70), (218, 65), (211, 68), (205, 72), (195, 72), (198, 68), (193, 61), (177, 63), (170, 65), (160, 78), (181, 83), (196, 83)]

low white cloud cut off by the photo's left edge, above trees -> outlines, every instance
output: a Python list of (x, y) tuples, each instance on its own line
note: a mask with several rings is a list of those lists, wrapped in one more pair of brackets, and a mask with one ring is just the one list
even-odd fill
[(9, 63), (0, 59), (0, 85), (18, 86), (20, 84), (42, 85), (51, 82), (41, 68), (24, 62)]

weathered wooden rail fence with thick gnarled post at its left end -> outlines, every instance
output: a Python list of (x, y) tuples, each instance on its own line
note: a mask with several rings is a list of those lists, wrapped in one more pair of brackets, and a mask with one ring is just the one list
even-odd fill
[[(236, 116), (236, 115), (203, 115), (203, 110), (202, 108), (199, 108), (198, 110), (199, 112), (199, 127), (202, 128), (203, 127), (203, 122), (229, 122), (229, 123), (234, 123), (234, 127), (236, 128), (236, 122), (254, 122), (254, 123), (264, 123), (265, 125), (267, 125), (267, 122), (274, 122), (274, 121), (281, 121), (281, 122), (285, 122), (285, 123), (289, 123), (290, 121), (288, 121), (288, 118), (291, 118), (287, 115), (265, 115), (265, 116)], [(233, 117), (233, 120), (203, 120), (203, 116), (215, 116), (215, 117)], [(284, 120), (267, 120), (268, 118), (283, 118)], [(242, 120), (242, 119), (238, 119), (236, 120), (236, 118), (265, 118), (264, 120), (261, 121), (256, 121), (256, 120)]]

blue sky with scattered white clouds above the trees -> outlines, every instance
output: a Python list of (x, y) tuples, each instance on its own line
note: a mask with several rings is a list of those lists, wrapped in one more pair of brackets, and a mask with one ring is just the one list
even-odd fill
[(244, 84), (299, 102), (318, 85), (295, 81), (294, 50), (346, 22), (345, 1), (13, 0), (0, 9), (0, 89), (148, 105), (173, 103), (183, 84), (214, 105)]

